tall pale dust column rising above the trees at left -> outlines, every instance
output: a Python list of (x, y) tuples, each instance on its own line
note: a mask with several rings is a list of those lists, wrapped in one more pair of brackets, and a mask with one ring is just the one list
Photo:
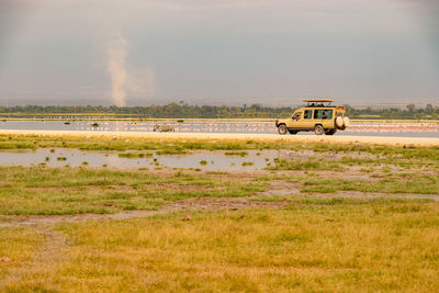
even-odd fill
[(122, 33), (117, 33), (108, 47), (106, 70), (111, 78), (111, 97), (116, 106), (124, 106), (126, 104), (126, 40)]

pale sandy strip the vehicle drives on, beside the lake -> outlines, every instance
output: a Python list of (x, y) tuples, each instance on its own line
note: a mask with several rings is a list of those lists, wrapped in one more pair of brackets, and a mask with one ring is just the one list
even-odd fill
[(391, 146), (439, 146), (439, 138), (385, 137), (385, 136), (314, 136), (278, 134), (227, 134), (227, 133), (140, 133), (140, 132), (69, 132), (69, 131), (14, 131), (0, 129), (0, 135), (31, 135), (44, 137), (88, 138), (150, 138), (150, 139), (204, 139), (204, 140), (263, 140), (324, 144), (368, 144)]

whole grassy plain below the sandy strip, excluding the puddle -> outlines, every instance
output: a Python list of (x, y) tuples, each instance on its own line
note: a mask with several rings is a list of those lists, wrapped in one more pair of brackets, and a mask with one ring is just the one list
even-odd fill
[(0, 137), (41, 147), (312, 155), (257, 172), (0, 167), (0, 292), (439, 291), (439, 148)]

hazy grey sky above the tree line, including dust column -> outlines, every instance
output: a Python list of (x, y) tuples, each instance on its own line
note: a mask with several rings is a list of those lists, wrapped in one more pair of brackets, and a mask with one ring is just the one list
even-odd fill
[(0, 0), (0, 104), (439, 104), (437, 0)]

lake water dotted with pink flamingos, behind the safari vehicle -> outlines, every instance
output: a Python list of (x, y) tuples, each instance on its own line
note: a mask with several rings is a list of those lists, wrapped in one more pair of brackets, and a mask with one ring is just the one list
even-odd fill
[[(92, 132), (153, 132), (154, 125), (172, 125), (182, 133), (277, 133), (272, 122), (124, 122), (99, 121), (93, 127), (90, 121), (5, 121), (0, 129), (34, 131), (92, 131)], [(301, 132), (299, 135), (314, 135)], [(356, 123), (336, 135), (394, 136), (394, 137), (438, 137), (439, 125), (432, 123)]]

